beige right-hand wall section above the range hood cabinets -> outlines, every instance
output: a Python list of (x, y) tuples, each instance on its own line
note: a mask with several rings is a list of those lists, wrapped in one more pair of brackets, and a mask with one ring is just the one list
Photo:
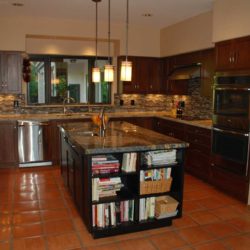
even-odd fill
[(161, 56), (213, 47), (212, 16), (212, 12), (206, 12), (162, 29)]

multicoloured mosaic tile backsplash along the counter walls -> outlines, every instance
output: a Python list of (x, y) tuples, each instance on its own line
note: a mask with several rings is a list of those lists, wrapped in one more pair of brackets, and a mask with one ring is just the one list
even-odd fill
[[(130, 112), (130, 111), (169, 111), (175, 112), (178, 101), (185, 101), (184, 115), (199, 116), (200, 118), (211, 118), (212, 99), (200, 95), (199, 79), (189, 82), (189, 95), (125, 95), (115, 94), (114, 106), (107, 111)], [(18, 103), (19, 107), (14, 107)], [(123, 102), (123, 105), (121, 105)], [(72, 107), (74, 112), (86, 112), (87, 107)], [(25, 95), (0, 95), (0, 113), (56, 113), (62, 112), (61, 107), (27, 107), (25, 106)], [(91, 107), (92, 111), (99, 111), (100, 107)]]

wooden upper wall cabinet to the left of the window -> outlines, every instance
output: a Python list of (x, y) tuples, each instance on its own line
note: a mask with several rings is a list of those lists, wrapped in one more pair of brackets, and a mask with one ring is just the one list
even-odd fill
[(21, 93), (21, 85), (21, 53), (0, 52), (0, 93)]

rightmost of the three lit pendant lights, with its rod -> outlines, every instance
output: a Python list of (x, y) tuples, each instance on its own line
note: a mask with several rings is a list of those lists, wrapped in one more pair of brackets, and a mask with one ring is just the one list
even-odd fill
[(129, 0), (127, 0), (126, 12), (126, 60), (121, 64), (121, 81), (130, 82), (132, 80), (132, 62), (128, 61), (128, 9)]

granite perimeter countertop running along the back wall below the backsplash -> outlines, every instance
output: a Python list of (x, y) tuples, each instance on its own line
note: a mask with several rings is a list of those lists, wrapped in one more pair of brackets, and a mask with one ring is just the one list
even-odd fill
[[(38, 120), (38, 121), (48, 121), (48, 120), (74, 120), (74, 119), (90, 119), (92, 115), (98, 113), (70, 113), (70, 114), (0, 114), (0, 121), (15, 121), (15, 120)], [(166, 111), (142, 111), (142, 112), (109, 112), (107, 113), (108, 117), (157, 117), (171, 121), (177, 121), (180, 123), (185, 123), (193, 126), (203, 127), (211, 129), (212, 120), (182, 120), (177, 119), (169, 112)]]

